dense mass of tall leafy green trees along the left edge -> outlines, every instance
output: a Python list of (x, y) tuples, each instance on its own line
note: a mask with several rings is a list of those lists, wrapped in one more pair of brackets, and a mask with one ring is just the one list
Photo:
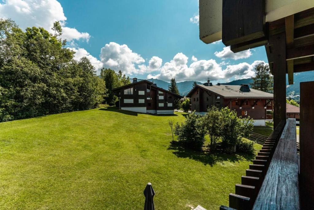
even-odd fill
[(94, 108), (106, 93), (89, 60), (41, 27), (1, 19), (0, 46), (0, 122)]

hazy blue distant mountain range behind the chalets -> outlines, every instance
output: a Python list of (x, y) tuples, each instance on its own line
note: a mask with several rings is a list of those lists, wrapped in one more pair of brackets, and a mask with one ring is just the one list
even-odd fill
[[(138, 79), (140, 81), (142, 79)], [(168, 90), (168, 85), (170, 85), (170, 82), (165, 82), (163, 80), (159, 79), (147, 79), (148, 81), (152, 82), (154, 80), (154, 83), (157, 84), (158, 87), (164, 88)], [(288, 85), (288, 75), (286, 78), (287, 81), (287, 91), (286, 95), (298, 95), (300, 94), (300, 82), (308, 82), (308, 81), (314, 81), (314, 71), (306, 71), (306, 72), (300, 72), (294, 74), (294, 84)], [(132, 82), (132, 81), (131, 81)], [(190, 90), (192, 89), (194, 81), (184, 81), (184, 82), (177, 82), (179, 91), (181, 95), (187, 95)], [(231, 82), (225, 82), (221, 83), (223, 85), (241, 85), (241, 84), (251, 84), (253, 82), (252, 78), (247, 79), (238, 79), (233, 80)], [(202, 82), (197, 82), (198, 84), (202, 84)]]

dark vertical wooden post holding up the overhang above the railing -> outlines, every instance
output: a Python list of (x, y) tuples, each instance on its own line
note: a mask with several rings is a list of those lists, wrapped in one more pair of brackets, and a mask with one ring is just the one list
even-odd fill
[(274, 78), (274, 128), (286, 119), (286, 36), (285, 33), (269, 37), (273, 45), (273, 78)]

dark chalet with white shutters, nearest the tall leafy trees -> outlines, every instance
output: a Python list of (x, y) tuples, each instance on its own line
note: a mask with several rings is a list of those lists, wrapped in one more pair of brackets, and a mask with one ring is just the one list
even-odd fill
[(147, 80), (113, 89), (119, 97), (119, 109), (151, 114), (173, 114), (174, 103), (182, 96), (157, 87)]

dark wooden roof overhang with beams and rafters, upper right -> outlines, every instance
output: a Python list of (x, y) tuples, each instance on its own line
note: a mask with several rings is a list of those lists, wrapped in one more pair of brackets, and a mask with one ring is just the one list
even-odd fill
[[(285, 43), (277, 43), (279, 36)], [(234, 53), (265, 45), (272, 73), (274, 51), (285, 52), (281, 55), (293, 84), (294, 72), (314, 70), (314, 8), (265, 22), (264, 0), (223, 0), (222, 42)]]

